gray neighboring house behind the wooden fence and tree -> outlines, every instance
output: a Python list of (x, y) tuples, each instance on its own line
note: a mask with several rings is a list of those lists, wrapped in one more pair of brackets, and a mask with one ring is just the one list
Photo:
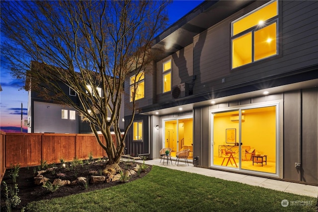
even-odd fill
[[(38, 62), (31, 62), (32, 64)], [(56, 104), (43, 99), (36, 91), (32, 91), (32, 80), (26, 80), (26, 90), (28, 90), (28, 133), (67, 133), (67, 134), (91, 134), (88, 122), (83, 122), (82, 117), (72, 107)], [(64, 92), (79, 105), (76, 92), (66, 84), (60, 85)], [(30, 89), (28, 89), (30, 88)], [(97, 88), (98, 89), (98, 88)], [(100, 89), (101, 90), (101, 89)], [(100, 93), (102, 95), (102, 93)], [(124, 109), (121, 108), (120, 128), (124, 128)]]

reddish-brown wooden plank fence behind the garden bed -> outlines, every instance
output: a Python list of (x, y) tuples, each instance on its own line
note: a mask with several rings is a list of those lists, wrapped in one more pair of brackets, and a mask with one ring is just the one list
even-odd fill
[[(48, 164), (60, 163), (60, 159), (72, 161), (106, 157), (106, 151), (98, 144), (93, 134), (49, 134), (49, 133), (4, 133), (0, 132), (0, 182), (6, 168), (38, 166), (46, 160)], [(102, 136), (103, 143), (105, 140)], [(113, 141), (115, 136), (112, 137)]]

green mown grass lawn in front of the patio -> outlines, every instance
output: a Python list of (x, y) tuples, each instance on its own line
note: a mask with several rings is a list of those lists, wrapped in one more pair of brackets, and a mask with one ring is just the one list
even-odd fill
[[(312, 204), (282, 207), (282, 200), (312, 201)], [(316, 212), (316, 204), (317, 198), (153, 166), (142, 179), (32, 202), (26, 209), (29, 212)]]

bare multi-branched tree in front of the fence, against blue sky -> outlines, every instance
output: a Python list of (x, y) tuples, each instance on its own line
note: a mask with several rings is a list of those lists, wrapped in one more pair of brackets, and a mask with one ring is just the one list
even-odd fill
[[(28, 73), (32, 89), (38, 88), (44, 97), (68, 104), (85, 117), (109, 163), (118, 163), (133, 122), (121, 132), (124, 80), (131, 71), (142, 77), (150, 70), (152, 41), (166, 26), (167, 3), (1, 1), (1, 55), (15, 77)], [(30, 61), (34, 61), (31, 68)], [(138, 83), (134, 84), (133, 117), (138, 89)], [(79, 105), (63, 92), (63, 85), (77, 93)]]

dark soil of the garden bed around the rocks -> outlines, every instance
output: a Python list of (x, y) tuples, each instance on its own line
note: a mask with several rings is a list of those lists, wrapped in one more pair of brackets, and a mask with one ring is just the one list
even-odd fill
[[(118, 165), (122, 169), (123, 172), (125, 170), (131, 170), (133, 167), (135, 167), (137, 162), (134, 161), (127, 161), (127, 162), (120, 162)], [(96, 174), (91, 174), (90, 171), (97, 171), (97, 175), (100, 175), (100, 171), (103, 170), (106, 167), (106, 162), (96, 162), (92, 164), (83, 164), (76, 166), (73, 170), (62, 168), (61, 164), (55, 165), (58, 167), (55, 169), (55, 172), (47, 171), (46, 173), (42, 174), (44, 177), (47, 177), (50, 179), (50, 182), (53, 183), (54, 179), (59, 178), (57, 177), (57, 173), (64, 173), (66, 176), (60, 177), (62, 180), (70, 180), (71, 182), (76, 180), (78, 177), (85, 177), (87, 181), (89, 182), (89, 179), (91, 176)], [(139, 179), (147, 175), (151, 169), (152, 166), (148, 165), (148, 169), (143, 172), (136, 173), (135, 175), (132, 175), (128, 182)], [(32, 201), (39, 201), (39, 200), (50, 200), (53, 198), (58, 197), (65, 197), (73, 194), (79, 194), (83, 192), (89, 192), (104, 188), (109, 188), (112, 186), (116, 186), (122, 182), (115, 181), (110, 183), (100, 183), (100, 184), (88, 184), (87, 189), (83, 185), (66, 185), (60, 187), (56, 192), (52, 193), (48, 191), (46, 188), (35, 185), (34, 184), (34, 172), (39, 171), (39, 167), (28, 167), (28, 168), (20, 168), (18, 172), (18, 177), (16, 179), (16, 183), (18, 184), (18, 196), (21, 199), (21, 203), (14, 209), (12, 209), (12, 212), (20, 212), (23, 207), (25, 207), (28, 203)], [(12, 172), (12, 169), (7, 169), (5, 172), (5, 175), (2, 179), (1, 183), (1, 201), (0, 201), (0, 211), (5, 211), (5, 196), (4, 196), (4, 186), (3, 181), (6, 182), (7, 187), (10, 188), (10, 185), (13, 185), (12, 178), (10, 177), (10, 173)]]

